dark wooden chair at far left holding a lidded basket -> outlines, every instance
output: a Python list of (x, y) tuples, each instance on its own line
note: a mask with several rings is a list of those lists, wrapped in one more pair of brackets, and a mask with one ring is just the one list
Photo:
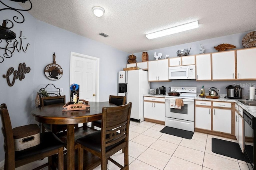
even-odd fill
[[(48, 167), (55, 168), (53, 165), (54, 156), (58, 154), (58, 169), (63, 170), (63, 148), (64, 143), (52, 132), (40, 135), (40, 144), (34, 147), (15, 151), (14, 136), (17, 132), (28, 129), (34, 131), (36, 124), (20, 126), (12, 129), (10, 116), (6, 104), (0, 105), (0, 117), (2, 120), (2, 133), (4, 135), (4, 170), (14, 170), (17, 167), (48, 157)], [(37, 125), (36, 125), (37, 126)], [(30, 128), (31, 127), (31, 128)], [(37, 126), (38, 127), (38, 126)], [(39, 127), (38, 127), (39, 132)], [(17, 149), (16, 149), (17, 150)], [(47, 166), (47, 164), (45, 165)], [(42, 167), (41, 167), (42, 168)]]

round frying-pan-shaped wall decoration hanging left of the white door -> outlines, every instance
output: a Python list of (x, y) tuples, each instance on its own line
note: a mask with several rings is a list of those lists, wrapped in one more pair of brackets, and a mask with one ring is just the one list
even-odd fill
[(62, 74), (63, 74), (63, 70), (62, 70), (61, 66), (56, 64), (55, 57), (56, 56), (55, 56), (55, 53), (54, 53), (53, 54), (53, 63), (48, 64), (44, 68), (44, 74), (50, 80), (59, 80), (62, 77)]

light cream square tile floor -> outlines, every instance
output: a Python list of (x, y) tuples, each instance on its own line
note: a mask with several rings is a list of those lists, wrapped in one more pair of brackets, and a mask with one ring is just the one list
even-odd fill
[[(163, 128), (164, 125), (146, 121), (130, 122), (130, 170), (248, 170), (246, 162), (212, 152), (212, 137), (227, 141), (234, 141), (233, 139), (195, 132), (192, 139), (188, 140), (160, 133)], [(124, 154), (121, 151), (112, 158), (124, 164)], [(45, 161), (47, 159), (17, 170), (29, 170), (30, 167), (38, 166), (35, 164), (44, 164)], [(119, 169), (112, 162), (108, 162), (108, 170)], [(100, 166), (95, 168), (100, 169)]]

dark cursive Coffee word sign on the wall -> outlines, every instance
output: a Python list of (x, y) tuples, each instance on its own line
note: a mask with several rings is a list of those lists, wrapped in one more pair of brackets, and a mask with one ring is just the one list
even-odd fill
[[(25, 78), (25, 74), (30, 72), (30, 67), (26, 67), (25, 63), (20, 63), (18, 70), (14, 71), (14, 68), (11, 67), (8, 69), (6, 75), (3, 75), (4, 78), (6, 78), (7, 83), (9, 86), (13, 86), (16, 79), (19, 79), (20, 81)], [(10, 75), (13, 73), (12, 83), (10, 82)]]

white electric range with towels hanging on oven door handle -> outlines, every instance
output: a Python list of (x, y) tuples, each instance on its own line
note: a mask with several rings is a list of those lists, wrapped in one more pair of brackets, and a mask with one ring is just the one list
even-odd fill
[[(165, 96), (165, 125), (194, 132), (194, 98), (196, 87), (171, 87), (172, 92), (180, 92), (180, 96)], [(170, 100), (182, 99), (181, 109), (170, 108)]]

